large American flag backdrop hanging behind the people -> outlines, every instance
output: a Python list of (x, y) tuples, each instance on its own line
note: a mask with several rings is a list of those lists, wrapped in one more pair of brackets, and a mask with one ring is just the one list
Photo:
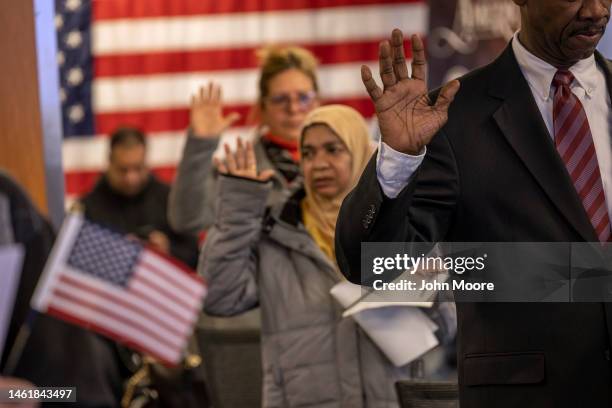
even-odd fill
[[(214, 80), (226, 111), (246, 118), (264, 45), (311, 50), (324, 103), (372, 116), (359, 67), (377, 72), (379, 41), (395, 27), (424, 34), (427, 22), (425, 0), (56, 0), (69, 202), (105, 167), (105, 136), (119, 125), (147, 133), (149, 164), (171, 181), (190, 95)], [(251, 133), (243, 121), (228, 137)]]

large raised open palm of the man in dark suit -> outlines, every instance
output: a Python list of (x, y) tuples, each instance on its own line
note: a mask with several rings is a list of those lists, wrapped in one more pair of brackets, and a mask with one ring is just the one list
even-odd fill
[(379, 49), (380, 78), (384, 90), (376, 84), (367, 66), (361, 67), (361, 79), (376, 108), (382, 140), (393, 149), (417, 155), (448, 120), (448, 107), (459, 90), (459, 81), (447, 83), (434, 105), (427, 90), (427, 62), (423, 42), (412, 36), (412, 78), (408, 76), (404, 56), (404, 38), (393, 30), (391, 43), (383, 41)]

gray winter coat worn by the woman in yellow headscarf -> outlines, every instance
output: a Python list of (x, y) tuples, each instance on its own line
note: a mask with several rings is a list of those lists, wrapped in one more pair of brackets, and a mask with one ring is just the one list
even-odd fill
[(266, 215), (272, 189), (231, 176), (218, 182), (218, 213), (199, 272), (205, 311), (261, 307), (263, 406), (397, 407), (394, 367), (329, 294), (340, 275), (306, 232), (299, 195)]

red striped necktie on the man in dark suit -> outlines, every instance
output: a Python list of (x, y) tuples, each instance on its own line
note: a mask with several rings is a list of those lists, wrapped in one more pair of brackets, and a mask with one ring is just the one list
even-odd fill
[(553, 78), (555, 145), (597, 237), (608, 242), (612, 230), (597, 153), (584, 107), (570, 89), (573, 81), (568, 70), (558, 70)]

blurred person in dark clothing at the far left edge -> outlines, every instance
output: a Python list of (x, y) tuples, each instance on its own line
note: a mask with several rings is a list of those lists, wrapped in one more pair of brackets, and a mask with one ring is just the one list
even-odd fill
[[(106, 343), (86, 330), (30, 310), (30, 298), (54, 240), (48, 220), (25, 191), (0, 170), (0, 246), (21, 244), (25, 249), (0, 372), (10, 369), (11, 376), (37, 386), (76, 387), (80, 407), (117, 406), (122, 384), (117, 381), (119, 368)], [(30, 334), (17, 340), (24, 324)], [(16, 342), (19, 344), (14, 347)], [(10, 359), (15, 361), (8, 367)], [(24, 384), (17, 381), (0, 378), (0, 389)]]

